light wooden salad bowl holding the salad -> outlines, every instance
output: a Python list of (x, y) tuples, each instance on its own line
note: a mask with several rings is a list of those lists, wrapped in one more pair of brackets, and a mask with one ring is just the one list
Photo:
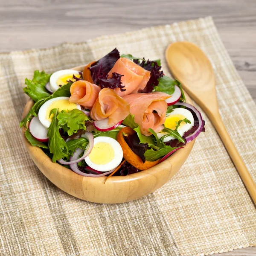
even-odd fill
[[(84, 66), (75, 67), (82, 71)], [(186, 95), (188, 103), (192, 103)], [(23, 111), (23, 118), (29, 112), (34, 102), (30, 99)], [(116, 204), (132, 201), (154, 192), (169, 181), (186, 161), (195, 140), (184, 148), (176, 151), (162, 163), (145, 171), (127, 176), (84, 177), (76, 174), (52, 160), (37, 146), (32, 146), (25, 137), (26, 129), (22, 128), (23, 142), (30, 157), (38, 169), (61, 190), (86, 201), (102, 204)]]

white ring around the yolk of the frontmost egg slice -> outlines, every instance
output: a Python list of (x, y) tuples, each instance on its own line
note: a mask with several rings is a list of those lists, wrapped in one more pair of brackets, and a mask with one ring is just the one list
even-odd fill
[[(88, 166), (90, 166), (91, 168), (93, 168), (97, 171), (100, 171), (100, 172), (111, 171), (111, 170), (115, 169), (117, 166), (119, 166), (119, 164), (122, 162), (122, 158), (123, 158), (122, 147), (118, 143), (118, 141), (114, 140), (111, 137), (99, 136), (99, 137), (94, 138), (94, 145), (96, 145), (99, 142), (109, 143), (112, 146), (113, 151), (114, 151), (114, 158), (106, 164), (96, 164), (90, 160), (90, 154), (89, 154), (87, 157), (85, 157), (84, 160)], [(100, 155), (99, 155), (99, 157), (100, 157)]]

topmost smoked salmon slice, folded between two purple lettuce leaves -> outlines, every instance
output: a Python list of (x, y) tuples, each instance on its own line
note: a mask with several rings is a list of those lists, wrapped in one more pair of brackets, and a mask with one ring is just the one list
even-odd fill
[(150, 71), (145, 70), (128, 58), (119, 58), (108, 75), (112, 77), (113, 72), (123, 75), (121, 82), (125, 91), (121, 92), (120, 88), (114, 89), (119, 96), (125, 96), (131, 93), (137, 93), (138, 90), (143, 90), (150, 79)]

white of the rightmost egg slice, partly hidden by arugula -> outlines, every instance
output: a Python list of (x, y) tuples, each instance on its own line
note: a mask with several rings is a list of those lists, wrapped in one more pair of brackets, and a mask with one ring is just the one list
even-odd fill
[[(193, 117), (192, 113), (189, 110), (185, 109), (185, 108), (175, 108), (171, 113), (166, 114), (166, 117), (177, 115), (177, 114), (185, 116), (185, 118), (188, 119), (191, 122), (191, 124), (186, 123), (185, 125), (182, 125), (182, 126), (178, 127), (178, 133), (180, 134), (181, 137), (183, 137), (184, 133), (186, 131), (189, 131), (194, 126), (194, 117)], [(160, 133), (157, 134), (157, 137), (160, 139), (161, 137), (163, 137), (166, 134), (168, 134), (168, 133), (160, 132)], [(166, 136), (163, 139), (163, 142), (167, 142), (167, 141), (174, 140), (174, 139), (175, 139), (175, 137)]]

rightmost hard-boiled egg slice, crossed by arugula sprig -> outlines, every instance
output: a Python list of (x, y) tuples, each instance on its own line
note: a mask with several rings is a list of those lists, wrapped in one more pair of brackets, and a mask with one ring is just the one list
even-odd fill
[[(176, 122), (179, 122), (180, 120), (183, 120), (185, 118), (188, 119), (191, 122), (191, 124), (181, 122), (180, 126), (178, 127), (178, 133), (182, 137), (184, 136), (184, 133), (186, 131), (189, 131), (194, 125), (194, 117), (189, 110), (185, 108), (175, 108), (171, 113), (166, 114), (166, 120), (164, 122), (164, 125), (166, 128), (175, 130), (175, 127), (177, 125)], [(160, 132), (157, 134), (157, 136), (158, 138), (160, 138), (166, 134), (168, 133)], [(165, 137), (163, 141), (167, 142), (174, 139), (175, 139), (174, 137), (168, 136), (168, 137)]]

